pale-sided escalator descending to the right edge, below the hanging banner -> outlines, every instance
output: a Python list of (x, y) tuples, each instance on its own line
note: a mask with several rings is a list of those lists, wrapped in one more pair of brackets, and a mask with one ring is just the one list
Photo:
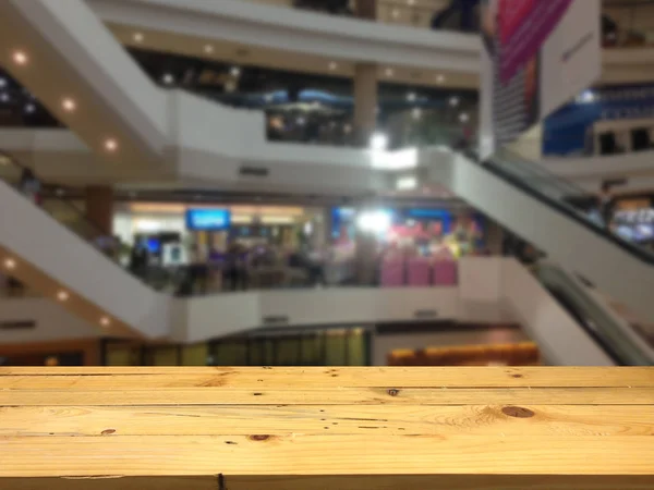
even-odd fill
[(473, 154), (427, 149), (421, 160), (428, 163), (429, 181), (654, 323), (654, 255), (572, 204), (588, 192), (508, 152), (481, 161)]

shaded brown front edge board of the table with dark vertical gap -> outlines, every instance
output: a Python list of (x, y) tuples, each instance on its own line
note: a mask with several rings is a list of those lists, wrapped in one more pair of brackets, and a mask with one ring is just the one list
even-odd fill
[(650, 476), (370, 475), (239, 477), (0, 478), (7, 490), (651, 490)]

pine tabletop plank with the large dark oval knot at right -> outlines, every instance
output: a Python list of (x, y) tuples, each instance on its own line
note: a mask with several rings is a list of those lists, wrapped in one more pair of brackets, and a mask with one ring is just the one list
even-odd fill
[(0, 407), (0, 437), (473, 434), (654, 436), (654, 406), (491, 405)]

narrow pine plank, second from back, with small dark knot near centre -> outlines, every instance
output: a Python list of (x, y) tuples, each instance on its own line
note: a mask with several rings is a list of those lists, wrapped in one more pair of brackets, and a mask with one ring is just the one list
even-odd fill
[[(298, 387), (296, 387), (298, 388)], [(251, 391), (231, 388), (0, 391), (4, 406), (121, 405), (651, 405), (652, 388), (488, 388)]]

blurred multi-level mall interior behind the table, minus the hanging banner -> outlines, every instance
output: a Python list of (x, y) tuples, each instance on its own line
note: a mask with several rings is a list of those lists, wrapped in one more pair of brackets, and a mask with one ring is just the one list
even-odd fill
[(654, 364), (654, 2), (492, 156), (481, 3), (0, 2), (0, 366)]

